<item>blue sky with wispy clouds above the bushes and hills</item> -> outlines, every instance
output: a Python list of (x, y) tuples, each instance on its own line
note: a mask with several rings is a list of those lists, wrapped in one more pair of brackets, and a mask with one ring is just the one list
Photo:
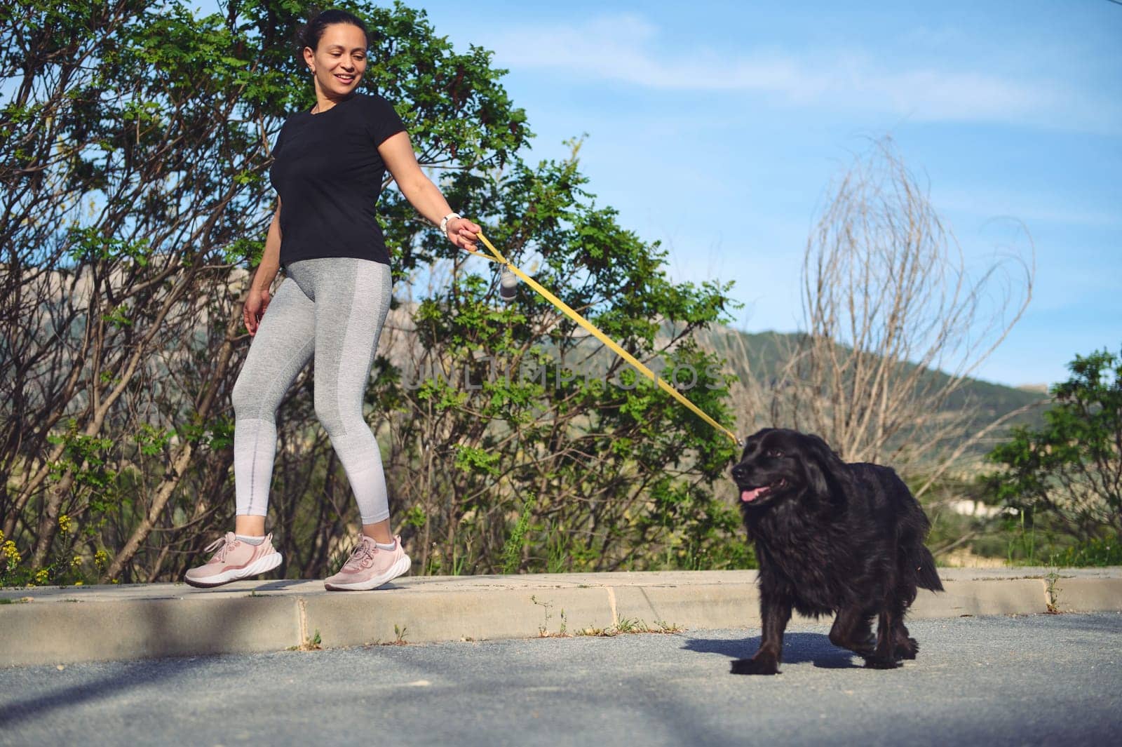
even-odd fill
[(833, 176), (891, 135), (972, 268), (1028, 258), (1023, 319), (977, 370), (1066, 378), (1122, 344), (1122, 6), (1067, 2), (431, 0), (495, 52), (537, 133), (600, 204), (670, 250), (672, 276), (736, 282), (747, 331), (799, 325), (799, 269)]

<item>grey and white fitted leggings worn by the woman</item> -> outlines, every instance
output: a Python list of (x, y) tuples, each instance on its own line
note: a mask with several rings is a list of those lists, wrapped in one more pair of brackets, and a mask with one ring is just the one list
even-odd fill
[(362, 395), (389, 311), (389, 267), (325, 257), (292, 262), (285, 274), (233, 385), (238, 515), (267, 513), (277, 406), (314, 354), (315, 416), (347, 471), (362, 524), (387, 519), (381, 453), (362, 418)]

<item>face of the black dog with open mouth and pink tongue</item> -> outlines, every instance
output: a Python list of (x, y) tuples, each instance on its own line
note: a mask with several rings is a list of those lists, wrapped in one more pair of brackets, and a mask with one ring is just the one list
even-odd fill
[(798, 435), (764, 428), (748, 436), (741, 462), (733, 468), (742, 506), (765, 506), (806, 487)]

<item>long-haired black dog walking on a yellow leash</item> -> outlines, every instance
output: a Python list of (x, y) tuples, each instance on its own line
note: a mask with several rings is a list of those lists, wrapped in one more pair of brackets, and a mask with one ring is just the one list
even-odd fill
[[(778, 674), (791, 608), (837, 614), (830, 642), (893, 668), (916, 658), (904, 612), (916, 588), (942, 591), (923, 546), (929, 524), (896, 473), (843, 462), (825, 441), (764, 428), (733, 468), (741, 511), (760, 562), (760, 651), (733, 662), (734, 674)], [(876, 637), (871, 621), (880, 616)]]

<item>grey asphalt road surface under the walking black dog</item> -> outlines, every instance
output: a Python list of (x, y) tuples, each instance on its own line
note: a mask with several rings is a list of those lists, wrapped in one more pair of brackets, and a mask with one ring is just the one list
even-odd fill
[(873, 671), (792, 626), (772, 677), (729, 674), (758, 630), (8, 668), (0, 744), (1122, 744), (1122, 614), (909, 627)]

